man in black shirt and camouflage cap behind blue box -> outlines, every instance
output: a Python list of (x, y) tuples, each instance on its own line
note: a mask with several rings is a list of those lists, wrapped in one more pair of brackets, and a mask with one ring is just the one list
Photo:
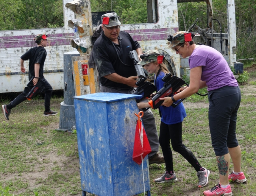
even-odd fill
[[(140, 56), (141, 46), (130, 34), (120, 31), (121, 22), (116, 13), (107, 13), (101, 19), (103, 32), (93, 45), (93, 60), (100, 76), (100, 91), (132, 94), (138, 77), (129, 52), (136, 50)], [(149, 164), (164, 163), (163, 157), (157, 153), (159, 139), (150, 109), (144, 112), (142, 120), (152, 150), (148, 154)]]

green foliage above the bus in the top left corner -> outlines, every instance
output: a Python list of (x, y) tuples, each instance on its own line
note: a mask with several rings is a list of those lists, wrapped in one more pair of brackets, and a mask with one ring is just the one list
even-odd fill
[(0, 0), (0, 31), (63, 27), (62, 0)]

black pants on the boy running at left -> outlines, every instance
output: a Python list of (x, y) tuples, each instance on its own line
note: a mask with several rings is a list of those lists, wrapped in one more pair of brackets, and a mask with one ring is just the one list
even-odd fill
[[(45, 87), (45, 111), (50, 111), (50, 100), (52, 97), (52, 86), (45, 80), (45, 78), (41, 79), (43, 82), (43, 87)], [(27, 100), (26, 95), (30, 92), (30, 90), (33, 88), (32, 86), (26, 86), (24, 91), (19, 94), (8, 106), (8, 109), (12, 109), (16, 105), (19, 105), (21, 102), (24, 102)]]

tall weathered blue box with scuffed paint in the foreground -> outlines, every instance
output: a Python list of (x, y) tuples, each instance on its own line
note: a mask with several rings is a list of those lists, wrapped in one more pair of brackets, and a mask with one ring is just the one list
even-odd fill
[[(132, 196), (144, 192), (142, 166), (132, 160), (137, 95), (95, 93), (74, 97), (83, 195)], [(150, 195), (147, 157), (145, 191)]]

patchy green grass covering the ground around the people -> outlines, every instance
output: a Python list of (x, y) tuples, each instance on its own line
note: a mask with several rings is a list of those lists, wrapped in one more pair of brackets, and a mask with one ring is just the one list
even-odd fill
[[(249, 85), (256, 86), (255, 81), (250, 81)], [(234, 196), (254, 196), (256, 190), (256, 97), (246, 94), (246, 90), (246, 85), (241, 86), (242, 102), (237, 117), (237, 138), (242, 149), (242, 170), (247, 182), (231, 183)], [(62, 101), (63, 98), (52, 98), (51, 109), (59, 111)], [(9, 100), (1, 100), (0, 104), (8, 102)], [(184, 102), (208, 103), (208, 98), (193, 95)], [(73, 133), (56, 131), (59, 114), (45, 117), (43, 111), (44, 101), (38, 98), (12, 109), (9, 121), (1, 114), (0, 196), (81, 195), (76, 130)], [(159, 130), (158, 110), (153, 112)], [(198, 196), (219, 182), (215, 154), (211, 147), (208, 108), (186, 108), (186, 112), (183, 142), (200, 164), (210, 170), (209, 185), (199, 189), (193, 167), (180, 154), (173, 152), (174, 172), (178, 181), (154, 183), (153, 180), (165, 172), (165, 164), (149, 165), (152, 196)]]

